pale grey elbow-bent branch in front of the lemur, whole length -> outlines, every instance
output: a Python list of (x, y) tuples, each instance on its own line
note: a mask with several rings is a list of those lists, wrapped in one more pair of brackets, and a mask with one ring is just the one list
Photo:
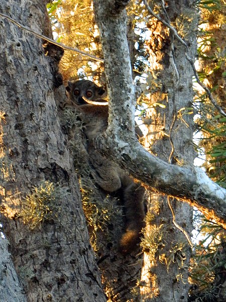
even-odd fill
[[(105, 135), (96, 147), (111, 155), (134, 177), (153, 190), (174, 196), (225, 228), (226, 190), (200, 169), (175, 166), (148, 153), (134, 138), (135, 87), (126, 37), (126, 11), (116, 11), (111, 1), (94, 1), (105, 60), (109, 118)], [(183, 46), (179, 46), (183, 47)]]

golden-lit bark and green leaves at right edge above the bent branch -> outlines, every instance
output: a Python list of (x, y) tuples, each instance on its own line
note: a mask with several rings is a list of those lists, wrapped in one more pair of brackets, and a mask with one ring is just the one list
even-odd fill
[[(201, 25), (198, 39), (199, 78), (208, 83), (216, 102), (225, 108), (225, 4), (222, 0), (200, 1)], [(210, 20), (210, 22), (209, 22)], [(202, 130), (199, 146), (205, 150), (209, 176), (226, 187), (226, 119), (218, 115), (205, 93), (197, 91), (198, 124)]]

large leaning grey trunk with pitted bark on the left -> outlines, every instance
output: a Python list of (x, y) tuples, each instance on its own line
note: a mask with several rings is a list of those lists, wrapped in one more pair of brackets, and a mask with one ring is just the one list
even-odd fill
[[(2, 0), (0, 11), (49, 34), (45, 4)], [(52, 58), (44, 55), (40, 39), (3, 18), (0, 33), (2, 221), (27, 299), (104, 301), (77, 177), (57, 115), (54, 93), (59, 97), (60, 90), (53, 85)], [(31, 230), (21, 209), (24, 197), (43, 180), (52, 182), (59, 194), (49, 218)]]

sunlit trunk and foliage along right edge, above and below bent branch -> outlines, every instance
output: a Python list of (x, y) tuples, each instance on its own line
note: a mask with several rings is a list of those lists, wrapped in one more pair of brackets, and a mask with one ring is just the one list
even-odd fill
[[(197, 2), (201, 11), (198, 57), (199, 78), (210, 89), (215, 101), (226, 108), (225, 72), (225, 3), (222, 0)], [(199, 147), (204, 151), (203, 165), (215, 182), (226, 188), (226, 119), (218, 114), (205, 92), (196, 91), (196, 109), (200, 115), (197, 125), (201, 130)], [(212, 221), (197, 215), (197, 240), (191, 261), (190, 281), (193, 284), (189, 301), (225, 301), (226, 242), (225, 231)], [(194, 220), (195, 221), (195, 220)], [(195, 221), (196, 222), (196, 221)]]

